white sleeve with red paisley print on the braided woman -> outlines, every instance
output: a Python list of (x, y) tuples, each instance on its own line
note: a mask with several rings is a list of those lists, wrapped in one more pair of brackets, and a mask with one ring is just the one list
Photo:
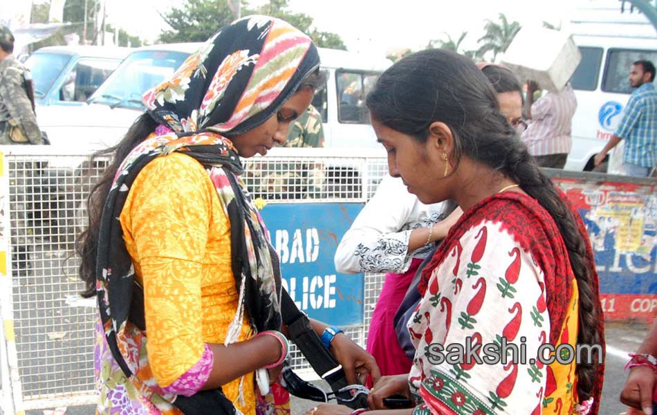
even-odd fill
[[(550, 333), (547, 311), (540, 324), (532, 314), (537, 299), (545, 299), (543, 279), (530, 253), (499, 223), (483, 221), (463, 235), (432, 273), (409, 321), (417, 350), (409, 382), (424, 405), (414, 414), (533, 414), (537, 408), (540, 413), (546, 367), (530, 358)], [(519, 349), (524, 344), (526, 362), (508, 348), (492, 353), (503, 342)], [(450, 353), (468, 344), (470, 356), (483, 362), (461, 358), (463, 349)], [(487, 364), (489, 354), (496, 359), (506, 354), (508, 362)]]

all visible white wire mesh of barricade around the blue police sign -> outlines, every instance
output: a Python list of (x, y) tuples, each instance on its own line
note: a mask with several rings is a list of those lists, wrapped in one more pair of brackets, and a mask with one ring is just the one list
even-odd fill
[[(107, 160), (88, 156), (5, 156), (10, 178), (12, 302), (24, 407), (53, 399), (95, 399), (94, 306), (75, 301), (75, 234), (86, 225), (86, 196)], [(387, 174), (385, 159), (272, 156), (245, 162), (252, 196), (271, 203), (364, 202)], [(383, 275), (365, 275), (364, 322), (345, 329), (364, 347)], [(89, 304), (89, 303), (86, 303)], [(91, 304), (94, 304), (91, 302)], [(295, 369), (308, 364), (293, 347)], [(83, 398), (83, 400), (80, 400)]]

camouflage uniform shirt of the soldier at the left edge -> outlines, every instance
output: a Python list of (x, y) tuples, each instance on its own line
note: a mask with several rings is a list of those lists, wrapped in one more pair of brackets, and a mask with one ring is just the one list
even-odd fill
[(20, 64), (8, 64), (0, 80), (0, 101), (30, 144), (43, 144), (32, 102), (24, 89), (24, 81), (24, 69)]

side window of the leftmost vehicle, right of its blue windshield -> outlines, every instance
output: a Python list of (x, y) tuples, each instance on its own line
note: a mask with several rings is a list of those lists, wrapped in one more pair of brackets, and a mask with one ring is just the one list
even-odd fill
[(120, 63), (119, 59), (80, 59), (65, 75), (57, 99), (85, 102)]

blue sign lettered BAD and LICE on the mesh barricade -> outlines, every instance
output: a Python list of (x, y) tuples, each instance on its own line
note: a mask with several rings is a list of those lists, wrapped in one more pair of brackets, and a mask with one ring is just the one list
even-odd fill
[(337, 273), (333, 257), (363, 203), (269, 204), (261, 215), (300, 310), (337, 326), (363, 322), (364, 275)]

